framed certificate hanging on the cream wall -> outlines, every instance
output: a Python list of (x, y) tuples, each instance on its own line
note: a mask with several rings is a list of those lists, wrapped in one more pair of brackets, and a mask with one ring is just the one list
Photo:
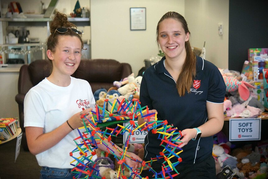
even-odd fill
[(130, 30), (146, 30), (146, 7), (130, 8)]

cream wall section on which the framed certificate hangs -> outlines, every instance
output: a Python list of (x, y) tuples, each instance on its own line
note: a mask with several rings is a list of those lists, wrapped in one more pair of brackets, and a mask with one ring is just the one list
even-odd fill
[[(130, 30), (130, 7), (146, 7), (146, 31)], [(158, 54), (156, 26), (169, 11), (184, 16), (184, 0), (91, 0), (91, 57), (116, 59), (132, 66), (135, 75), (144, 59)]]

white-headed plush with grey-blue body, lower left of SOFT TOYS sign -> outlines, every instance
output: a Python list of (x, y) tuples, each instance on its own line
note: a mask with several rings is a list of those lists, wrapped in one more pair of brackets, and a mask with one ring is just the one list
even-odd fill
[(212, 155), (217, 157), (220, 167), (224, 168), (228, 165), (240, 178), (245, 177), (244, 173), (239, 172), (239, 169), (236, 166), (238, 163), (237, 158), (225, 153), (224, 148), (217, 144), (213, 144)]

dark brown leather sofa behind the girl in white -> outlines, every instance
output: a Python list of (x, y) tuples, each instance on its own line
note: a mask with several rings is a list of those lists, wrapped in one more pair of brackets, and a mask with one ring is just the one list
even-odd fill
[[(31, 87), (48, 77), (52, 71), (49, 60), (35, 60), (30, 64), (21, 66), (18, 80), (18, 94), (15, 97), (19, 105), (20, 127), (22, 134), (22, 147), (29, 150), (24, 128), (24, 98)], [(120, 63), (113, 59), (83, 59), (72, 77), (88, 81), (94, 93), (100, 88), (108, 90), (113, 87), (114, 81), (120, 81), (132, 73), (130, 64)]]

